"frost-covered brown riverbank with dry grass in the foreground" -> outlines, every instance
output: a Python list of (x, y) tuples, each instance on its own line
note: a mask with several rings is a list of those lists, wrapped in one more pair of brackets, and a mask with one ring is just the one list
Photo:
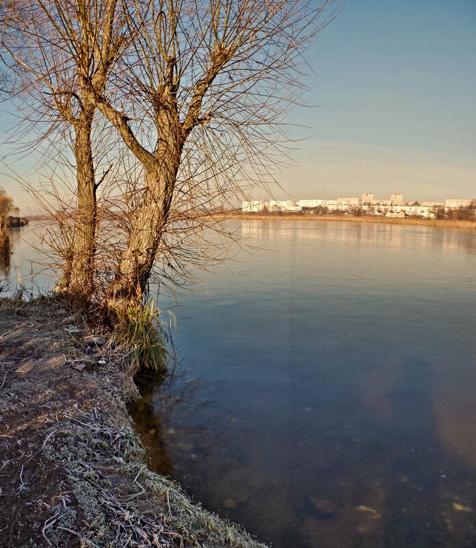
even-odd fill
[(1, 547), (265, 548), (148, 468), (107, 332), (42, 298), (0, 333)]

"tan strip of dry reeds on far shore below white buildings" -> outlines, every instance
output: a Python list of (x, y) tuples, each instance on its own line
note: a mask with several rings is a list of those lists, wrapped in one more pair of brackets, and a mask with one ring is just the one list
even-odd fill
[(293, 215), (292, 213), (267, 214), (261, 213), (233, 213), (230, 219), (241, 220), (256, 220), (256, 221), (341, 221), (341, 222), (376, 222), (385, 224), (409, 224), (434, 226), (442, 229), (471, 229), (476, 231), (476, 222), (474, 221), (457, 221), (447, 219), (415, 219), (415, 218), (398, 218), (398, 217), (375, 217), (362, 216), (352, 217), (348, 215)]

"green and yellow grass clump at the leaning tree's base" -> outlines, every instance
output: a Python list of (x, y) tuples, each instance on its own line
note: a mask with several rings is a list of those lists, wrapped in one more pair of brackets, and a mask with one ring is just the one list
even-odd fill
[(118, 310), (118, 317), (114, 341), (123, 357), (124, 372), (130, 376), (138, 371), (166, 372), (170, 353), (153, 299)]

